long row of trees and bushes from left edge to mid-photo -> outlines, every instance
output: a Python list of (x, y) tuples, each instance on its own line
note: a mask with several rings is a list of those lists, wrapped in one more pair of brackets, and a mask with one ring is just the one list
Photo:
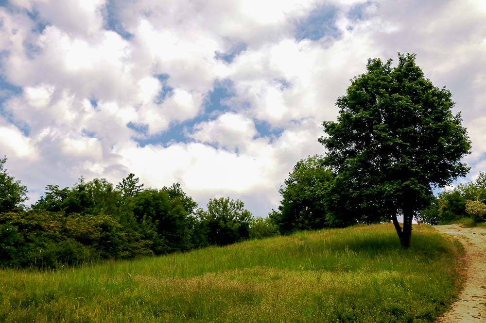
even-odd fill
[(27, 188), (0, 160), (0, 267), (57, 268), (106, 258), (134, 258), (226, 245), (278, 234), (240, 200), (209, 200), (207, 210), (179, 183), (144, 189), (134, 174), (72, 188), (48, 185), (25, 207)]

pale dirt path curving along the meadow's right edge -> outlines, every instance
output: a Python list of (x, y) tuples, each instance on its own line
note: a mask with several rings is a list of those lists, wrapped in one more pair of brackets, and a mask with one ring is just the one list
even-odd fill
[(486, 322), (486, 229), (459, 225), (435, 228), (463, 243), (468, 264), (464, 290), (437, 322)]

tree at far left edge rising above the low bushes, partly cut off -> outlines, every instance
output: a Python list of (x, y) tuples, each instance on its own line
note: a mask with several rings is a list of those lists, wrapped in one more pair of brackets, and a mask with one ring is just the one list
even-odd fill
[(23, 210), (28, 199), (27, 187), (7, 173), (6, 162), (6, 156), (0, 159), (0, 213)]

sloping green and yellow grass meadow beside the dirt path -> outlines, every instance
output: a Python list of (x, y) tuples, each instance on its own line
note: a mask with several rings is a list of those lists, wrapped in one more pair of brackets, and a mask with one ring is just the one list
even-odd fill
[(392, 225), (299, 232), (55, 272), (0, 271), (1, 322), (428, 322), (461, 279), (458, 242)]

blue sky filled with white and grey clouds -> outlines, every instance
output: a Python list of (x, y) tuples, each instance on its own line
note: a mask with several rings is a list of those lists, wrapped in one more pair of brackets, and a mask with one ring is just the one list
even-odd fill
[(0, 0), (0, 155), (29, 189), (180, 182), (278, 206), (368, 58), (417, 54), (486, 171), (484, 0)]

